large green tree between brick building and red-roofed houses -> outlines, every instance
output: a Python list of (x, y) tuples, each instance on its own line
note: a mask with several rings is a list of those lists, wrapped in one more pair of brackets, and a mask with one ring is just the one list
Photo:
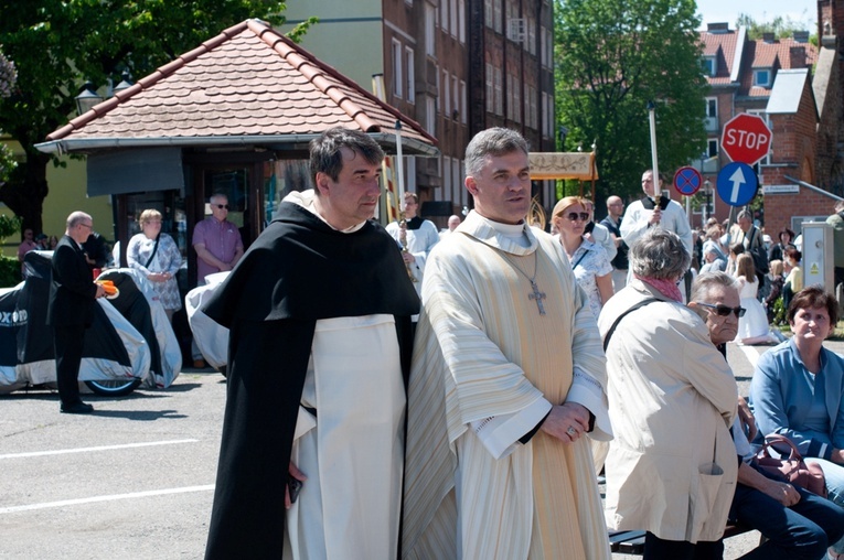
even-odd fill
[(656, 104), (660, 170), (704, 149), (699, 19), (694, 0), (557, 0), (557, 120), (565, 150), (595, 142), (598, 198), (641, 192), (651, 166), (647, 104)]

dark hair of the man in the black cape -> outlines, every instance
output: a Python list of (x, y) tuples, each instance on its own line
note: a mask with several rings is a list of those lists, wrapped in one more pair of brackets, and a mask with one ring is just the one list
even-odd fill
[(317, 173), (325, 173), (332, 181), (336, 181), (343, 170), (343, 153), (341, 148), (352, 150), (356, 155), (371, 164), (377, 165), (384, 159), (384, 150), (365, 132), (343, 127), (334, 127), (325, 130), (319, 137), (311, 140), (311, 180), (317, 194)]

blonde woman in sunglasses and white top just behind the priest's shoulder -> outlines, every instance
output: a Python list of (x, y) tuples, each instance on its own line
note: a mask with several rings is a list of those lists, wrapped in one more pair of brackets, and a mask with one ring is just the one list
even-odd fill
[(584, 237), (584, 229), (589, 223), (586, 201), (579, 196), (566, 196), (554, 206), (551, 220), (558, 231), (556, 237), (571, 263), (577, 284), (589, 297), (589, 308), (597, 320), (601, 308), (613, 293), (612, 265), (603, 247)]

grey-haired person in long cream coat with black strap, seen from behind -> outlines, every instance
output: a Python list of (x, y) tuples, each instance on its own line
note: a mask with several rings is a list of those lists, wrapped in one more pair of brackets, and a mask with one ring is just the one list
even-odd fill
[(652, 228), (630, 249), (630, 283), (598, 319), (607, 351), (610, 420), (607, 524), (647, 530), (649, 559), (722, 558), (736, 487), (729, 426), (738, 389), (703, 319), (677, 282), (690, 255)]

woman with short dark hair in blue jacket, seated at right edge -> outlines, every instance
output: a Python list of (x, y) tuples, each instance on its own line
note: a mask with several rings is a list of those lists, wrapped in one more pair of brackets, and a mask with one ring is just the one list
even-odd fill
[[(844, 505), (844, 358), (823, 347), (838, 302), (819, 286), (798, 292), (788, 310), (793, 336), (759, 357), (750, 398), (759, 432), (790, 439), (823, 469), (829, 497)], [(830, 549), (844, 558), (844, 542)]]

